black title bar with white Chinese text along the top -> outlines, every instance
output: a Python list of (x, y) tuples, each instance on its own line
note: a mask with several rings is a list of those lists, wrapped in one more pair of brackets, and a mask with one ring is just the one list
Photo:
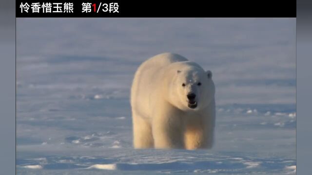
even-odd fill
[[(73, 13), (21, 13), (20, 4), (33, 2), (74, 4)], [(99, 4), (118, 3), (119, 13), (103, 12), (82, 13), (82, 3)], [(16, 17), (255, 17), (255, 18), (295, 18), (296, 1), (288, 0), (17, 0)]]

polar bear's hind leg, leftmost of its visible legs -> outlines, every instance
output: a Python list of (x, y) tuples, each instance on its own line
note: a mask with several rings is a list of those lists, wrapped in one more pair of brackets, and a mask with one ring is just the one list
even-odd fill
[(133, 145), (135, 149), (153, 148), (151, 124), (141, 116), (133, 113)]

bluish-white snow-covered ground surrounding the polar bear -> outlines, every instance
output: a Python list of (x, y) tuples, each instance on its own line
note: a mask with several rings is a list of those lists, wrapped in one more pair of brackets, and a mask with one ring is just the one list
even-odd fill
[[(212, 150), (134, 150), (139, 64), (212, 70)], [(295, 174), (295, 18), (18, 18), (17, 174)]]

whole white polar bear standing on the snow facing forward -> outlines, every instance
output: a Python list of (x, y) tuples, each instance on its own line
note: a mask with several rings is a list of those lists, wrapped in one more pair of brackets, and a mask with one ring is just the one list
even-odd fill
[(135, 148), (212, 148), (215, 85), (212, 72), (174, 53), (143, 62), (131, 88)]

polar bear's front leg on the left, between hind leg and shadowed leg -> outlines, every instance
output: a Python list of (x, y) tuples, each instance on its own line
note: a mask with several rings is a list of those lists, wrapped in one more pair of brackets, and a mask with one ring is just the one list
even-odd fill
[(156, 149), (182, 149), (183, 121), (176, 110), (165, 109), (153, 115), (152, 132)]

